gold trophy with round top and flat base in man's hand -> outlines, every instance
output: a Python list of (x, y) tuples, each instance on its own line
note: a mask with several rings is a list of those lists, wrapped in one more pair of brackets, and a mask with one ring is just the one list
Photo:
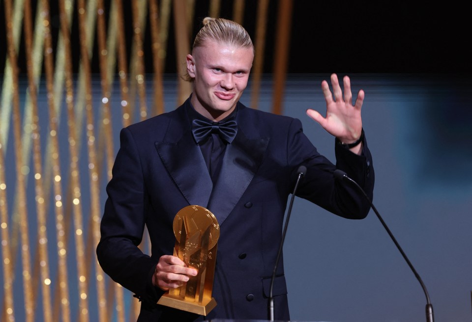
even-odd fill
[(176, 246), (174, 256), (188, 267), (198, 270), (188, 282), (170, 289), (157, 304), (200, 315), (207, 315), (215, 306), (211, 297), (215, 275), (216, 247), (220, 226), (208, 209), (200, 206), (182, 208), (174, 218)]

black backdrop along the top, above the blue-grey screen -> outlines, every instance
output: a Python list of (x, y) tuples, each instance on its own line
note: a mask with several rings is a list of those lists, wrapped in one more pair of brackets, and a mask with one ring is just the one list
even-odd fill
[[(0, 71), (4, 70), (6, 34), (3, 1), (0, 10)], [(33, 13), (36, 1), (31, 1)], [(258, 1), (245, 2), (243, 25), (253, 40)], [(109, 7), (110, 1), (105, 1)], [(57, 1), (51, 1), (51, 25), (57, 42)], [(269, 2), (264, 72), (273, 70), (274, 34), (278, 0)], [(131, 45), (131, 1), (123, 1), (128, 57)], [(208, 0), (195, 2), (194, 34), (207, 16)], [(220, 16), (232, 18), (233, 1), (221, 2)], [(105, 10), (107, 12), (107, 10)], [(74, 70), (78, 71), (79, 38), (74, 10), (72, 44)], [(455, 73), (471, 72), (470, 17), (465, 4), (454, 1), (311, 1), (294, 0), (289, 73)], [(171, 32), (173, 29), (171, 18)], [(146, 70), (152, 72), (149, 22), (144, 46)], [(193, 35), (194, 35), (193, 34)], [(193, 36), (192, 35), (192, 36)], [(175, 73), (174, 34), (169, 35), (165, 72)], [(99, 73), (97, 46), (92, 70)], [(56, 52), (56, 50), (54, 50)], [(24, 43), (18, 55), (20, 73), (26, 73)]]

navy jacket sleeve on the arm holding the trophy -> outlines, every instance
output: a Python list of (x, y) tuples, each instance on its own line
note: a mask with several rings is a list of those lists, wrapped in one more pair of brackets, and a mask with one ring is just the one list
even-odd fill
[(107, 194), (96, 249), (98, 262), (115, 282), (141, 300), (155, 303), (160, 290), (150, 281), (156, 262), (138, 247), (146, 222), (148, 194), (136, 143), (127, 128), (120, 133), (120, 149)]

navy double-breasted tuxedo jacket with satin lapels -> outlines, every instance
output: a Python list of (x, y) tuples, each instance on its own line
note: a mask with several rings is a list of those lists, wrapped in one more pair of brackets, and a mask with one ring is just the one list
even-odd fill
[[(138, 321), (203, 320), (155, 304), (163, 294), (151, 276), (160, 256), (172, 254), (174, 217), (188, 205), (209, 209), (220, 225), (213, 294), (206, 319), (268, 318), (270, 278), (283, 218), (300, 165), (307, 167), (297, 196), (346, 218), (364, 218), (370, 204), (354, 188), (335, 182), (339, 168), (372, 197), (374, 170), (367, 144), (358, 156), (335, 144), (336, 165), (320, 155), (301, 122), (238, 103), (237, 134), (212, 183), (181, 107), (121, 130), (120, 149), (107, 186), (97, 256), (103, 270), (135, 293)], [(151, 255), (138, 248), (147, 227)], [(303, 268), (300, 268), (303, 269)], [(275, 320), (289, 320), (283, 261), (274, 284)]]

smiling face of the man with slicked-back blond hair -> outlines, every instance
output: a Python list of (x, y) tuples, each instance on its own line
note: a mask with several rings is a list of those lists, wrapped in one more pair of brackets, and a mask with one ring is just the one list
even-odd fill
[(194, 78), (191, 103), (210, 120), (231, 114), (246, 88), (254, 53), (252, 48), (211, 41), (187, 55), (187, 71)]

